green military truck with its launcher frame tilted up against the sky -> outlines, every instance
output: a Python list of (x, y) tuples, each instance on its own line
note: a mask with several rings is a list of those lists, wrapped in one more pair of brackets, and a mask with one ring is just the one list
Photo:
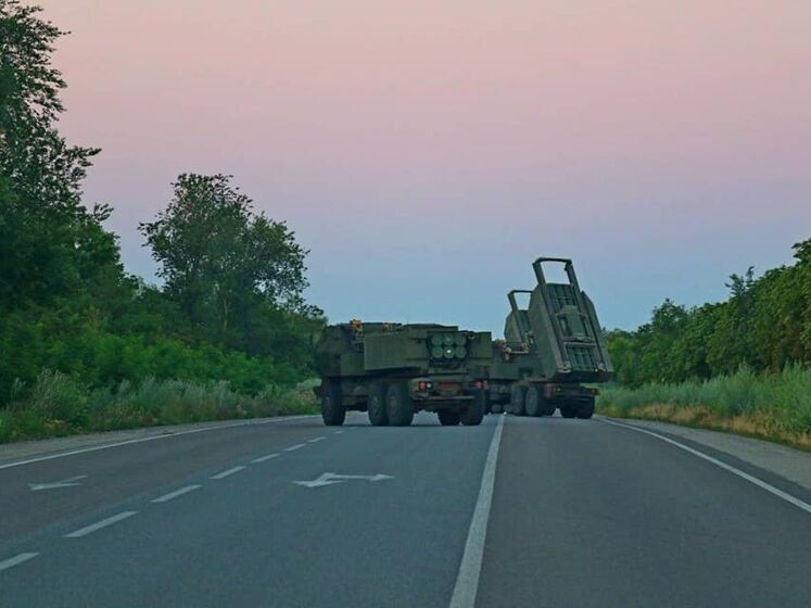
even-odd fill
[[(544, 265), (562, 264), (566, 282), (547, 282)], [(507, 294), (504, 340), (493, 342), (490, 410), (516, 416), (591, 418), (598, 390), (612, 372), (594, 304), (580, 289), (571, 259), (538, 257), (537, 286)], [(517, 295), (529, 295), (525, 308)]]

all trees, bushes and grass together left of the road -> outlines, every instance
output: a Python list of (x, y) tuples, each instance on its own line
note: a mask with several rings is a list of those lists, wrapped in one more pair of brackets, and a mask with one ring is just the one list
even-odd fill
[(0, 441), (311, 411), (307, 251), (230, 176), (182, 174), (140, 225), (163, 283), (125, 273), (83, 199), (100, 150), (56, 129), (63, 34), (0, 0)]

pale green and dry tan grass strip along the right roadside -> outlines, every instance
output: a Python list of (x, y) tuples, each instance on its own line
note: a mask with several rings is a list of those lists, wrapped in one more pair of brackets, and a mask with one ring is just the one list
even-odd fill
[(598, 411), (756, 436), (811, 451), (811, 369), (786, 367), (638, 389), (601, 390)]

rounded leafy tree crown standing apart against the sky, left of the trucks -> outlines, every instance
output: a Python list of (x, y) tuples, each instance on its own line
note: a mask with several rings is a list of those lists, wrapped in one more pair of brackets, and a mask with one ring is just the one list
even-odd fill
[(166, 211), (140, 230), (166, 293), (204, 337), (233, 345), (257, 307), (308, 313), (307, 251), (283, 221), (255, 214), (231, 176), (182, 174)]

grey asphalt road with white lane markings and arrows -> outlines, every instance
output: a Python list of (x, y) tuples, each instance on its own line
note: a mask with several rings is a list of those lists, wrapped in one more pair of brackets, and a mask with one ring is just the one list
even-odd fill
[(0, 463), (0, 606), (811, 606), (811, 492), (774, 472), (598, 419), (415, 422)]

